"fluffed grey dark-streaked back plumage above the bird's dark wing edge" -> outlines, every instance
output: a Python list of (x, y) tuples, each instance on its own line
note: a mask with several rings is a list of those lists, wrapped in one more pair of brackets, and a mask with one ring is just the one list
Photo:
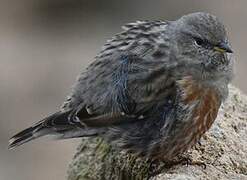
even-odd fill
[(125, 25), (124, 31), (108, 40), (95, 61), (80, 74), (62, 109), (85, 104), (99, 113), (117, 111), (114, 98), (119, 94), (128, 96), (126, 88), (135, 100), (153, 91), (156, 84), (171, 84), (167, 25), (164, 21)]

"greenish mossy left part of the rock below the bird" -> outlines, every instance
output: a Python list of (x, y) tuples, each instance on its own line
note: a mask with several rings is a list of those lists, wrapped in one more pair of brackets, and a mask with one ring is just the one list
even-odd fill
[(100, 138), (84, 139), (69, 167), (68, 180), (143, 180), (150, 162), (118, 152)]

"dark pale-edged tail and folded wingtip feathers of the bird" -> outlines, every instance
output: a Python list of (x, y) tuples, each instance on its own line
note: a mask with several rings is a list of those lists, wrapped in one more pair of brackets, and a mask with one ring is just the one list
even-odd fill
[(97, 136), (105, 133), (109, 126), (133, 120), (134, 117), (126, 117), (120, 113), (92, 115), (85, 108), (79, 113), (73, 109), (59, 111), (14, 135), (9, 140), (8, 148), (13, 149), (45, 135), (55, 135), (56, 139)]

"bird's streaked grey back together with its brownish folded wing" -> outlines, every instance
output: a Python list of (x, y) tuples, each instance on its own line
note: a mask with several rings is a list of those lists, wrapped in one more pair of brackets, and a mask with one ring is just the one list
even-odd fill
[[(167, 22), (138, 21), (110, 39), (62, 106), (90, 126), (142, 117), (175, 92)], [(171, 68), (169, 68), (171, 69)]]

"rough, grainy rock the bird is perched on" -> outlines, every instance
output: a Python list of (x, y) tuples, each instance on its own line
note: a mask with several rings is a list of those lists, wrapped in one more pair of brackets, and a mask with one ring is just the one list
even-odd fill
[(204, 162), (206, 169), (151, 163), (117, 152), (99, 138), (83, 139), (69, 166), (68, 180), (247, 180), (247, 96), (230, 86), (213, 127), (183, 156)]

